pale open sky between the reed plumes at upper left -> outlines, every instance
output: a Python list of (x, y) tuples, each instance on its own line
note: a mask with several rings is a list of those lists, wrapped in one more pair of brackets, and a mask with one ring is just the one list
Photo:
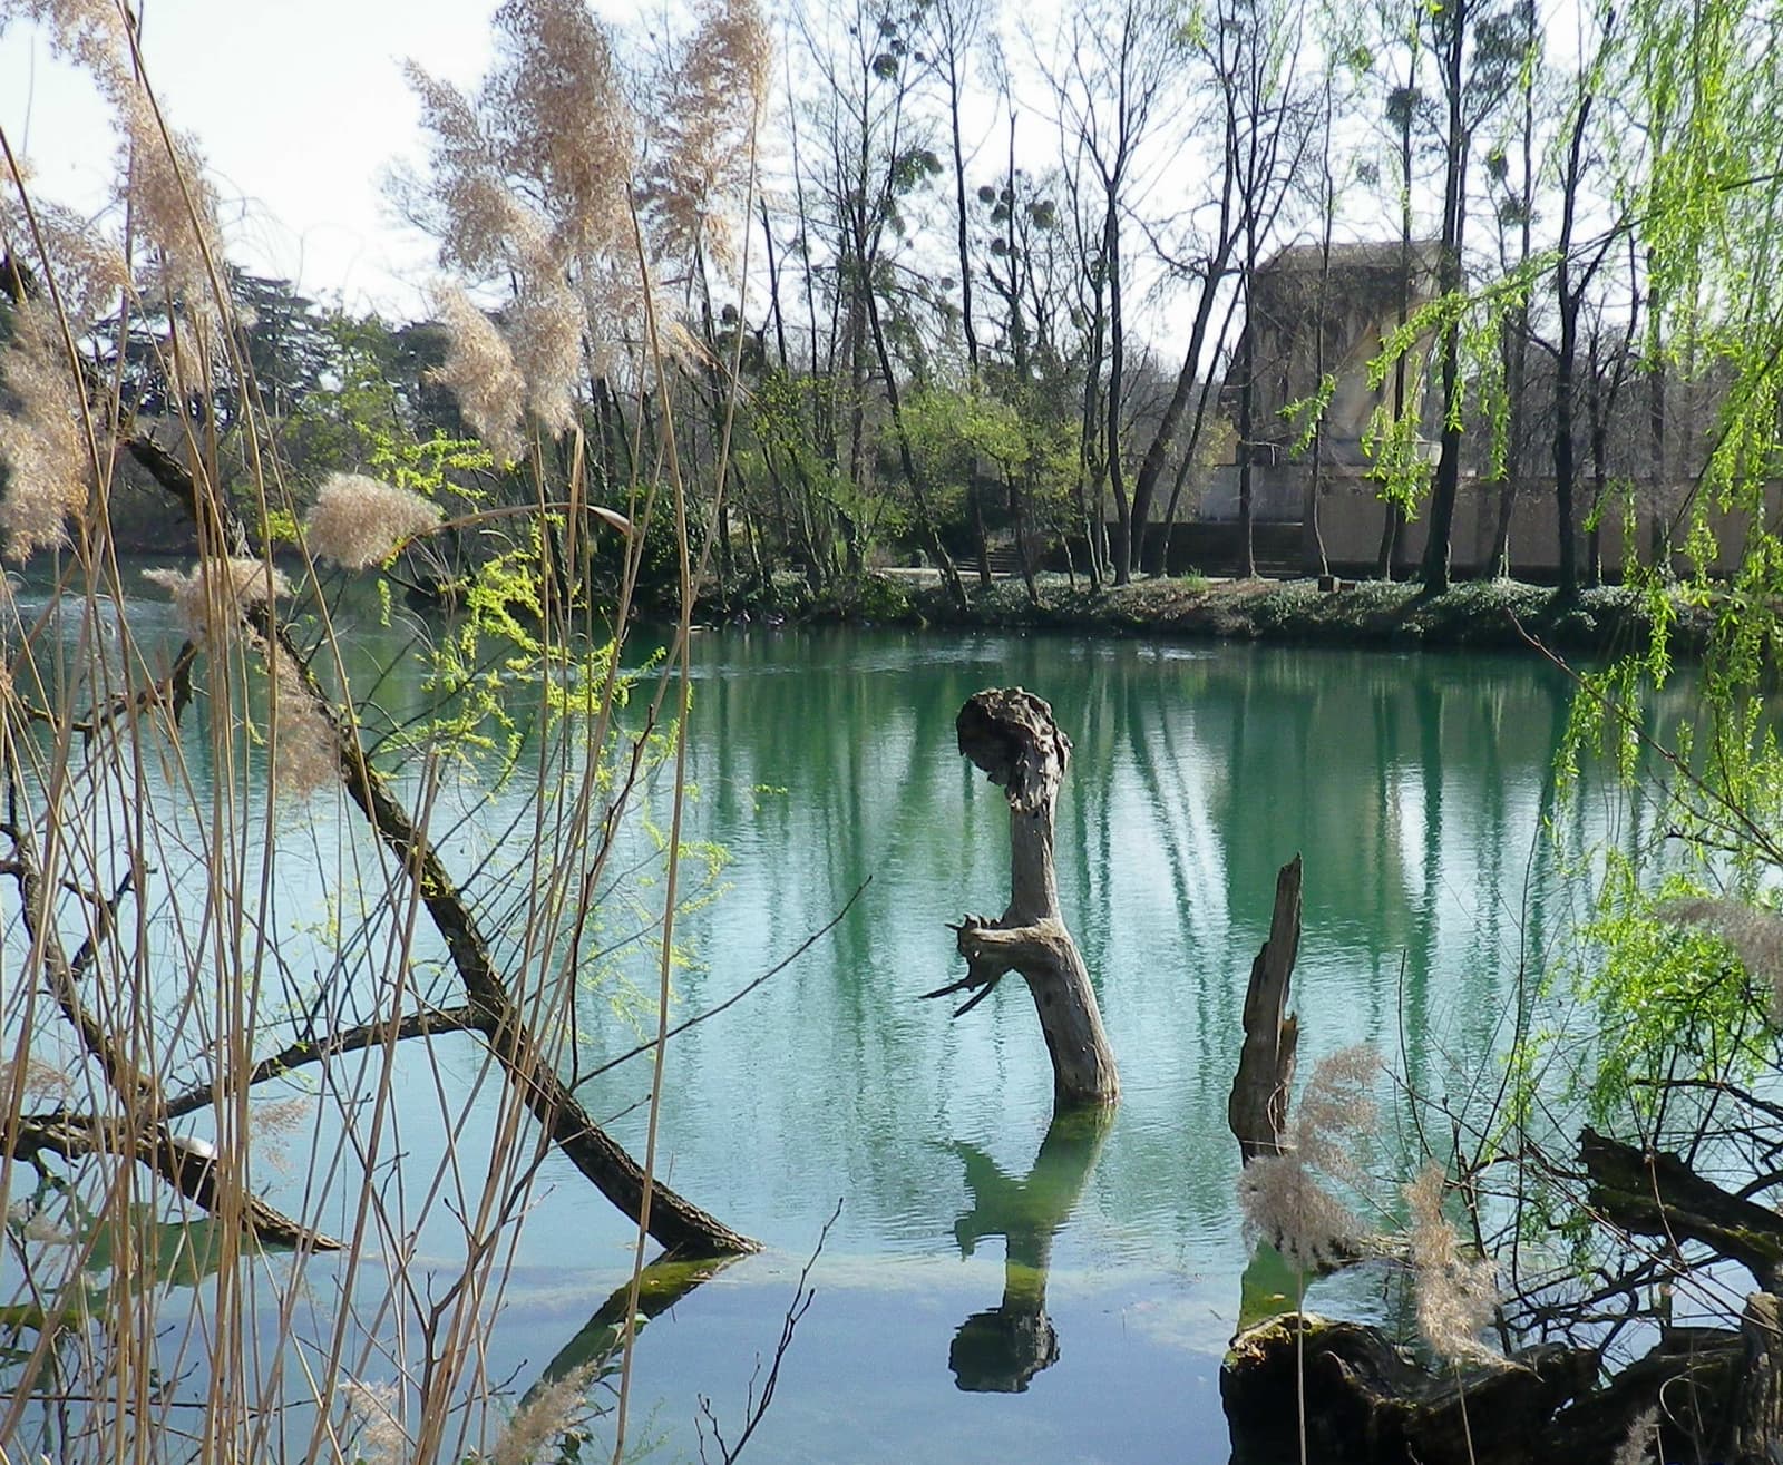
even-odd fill
[[(474, 86), (496, 0), (141, 0), (143, 55), (162, 110), (198, 137), (223, 198), (230, 255), (312, 298), (392, 317), (426, 312), (433, 250), (383, 198), (423, 155), (403, 82), (412, 57)], [(114, 141), (91, 86), (25, 23), (0, 32), (0, 128), (32, 189), (96, 209)]]

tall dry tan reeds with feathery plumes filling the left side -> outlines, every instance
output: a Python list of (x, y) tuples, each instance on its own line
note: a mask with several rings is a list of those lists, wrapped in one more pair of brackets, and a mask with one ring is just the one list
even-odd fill
[[(742, 203), (760, 20), (703, 14), (683, 109), (654, 135), (579, 4), (508, 0), (478, 98), (415, 73), (439, 143), (417, 189), (456, 276), (444, 378), (489, 447), (481, 479), (517, 460), (506, 481), (530, 503), (490, 512), (474, 478), (421, 499), (332, 479), (278, 547), (310, 494), (269, 451), (196, 148), (166, 125), (123, 7), (0, 0), (0, 21), (20, 18), (112, 107), (119, 182), (94, 248), (0, 137), (0, 528), (23, 565), (0, 692), (0, 1444), (68, 1461), (531, 1458), (615, 1403), (624, 1419), (612, 1358), (521, 1403), (490, 1328), (563, 1142), (540, 1094), (606, 1041), (588, 987), (624, 998), (610, 973), (628, 943), (656, 952), (656, 989), (631, 1000), (658, 1030), (615, 1347), (640, 1306), (695, 592), (674, 424), (649, 430), (642, 401), (676, 369), (656, 276), (722, 258)], [(715, 59), (744, 91), (695, 86)], [(492, 278), (512, 282), (499, 323), (465, 294)], [(128, 419), (102, 364), (132, 321), (164, 323), (159, 365), (189, 412)], [(640, 403), (622, 504), (588, 479), (594, 371)], [(228, 430), (225, 383), (242, 405)], [(143, 471), (198, 544), (159, 577), (168, 602), (111, 528)], [(674, 520), (681, 617), (635, 697), (624, 634), (654, 515)], [(472, 597), (469, 627), (415, 624), (435, 674), (392, 704), (355, 645), (374, 618), (360, 583), (442, 526), (478, 536), (499, 593)], [(626, 569), (601, 608), (581, 567), (615, 533)], [(631, 816), (658, 765), (670, 838), (645, 920), (628, 873), (654, 855)], [(497, 798), (489, 777), (517, 773), (537, 793)]]

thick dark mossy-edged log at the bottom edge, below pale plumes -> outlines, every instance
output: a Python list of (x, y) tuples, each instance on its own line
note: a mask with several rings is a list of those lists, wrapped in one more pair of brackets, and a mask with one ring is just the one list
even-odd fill
[(1378, 1330), (1293, 1312), (1241, 1333), (1220, 1367), (1234, 1465), (1494, 1465), (1549, 1458), (1542, 1431), (1590, 1387), (1590, 1349), (1535, 1347), (1435, 1376)]

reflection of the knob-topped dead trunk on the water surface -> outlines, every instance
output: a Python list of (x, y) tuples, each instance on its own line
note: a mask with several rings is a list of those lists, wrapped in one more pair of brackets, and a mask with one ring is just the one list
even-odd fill
[(1022, 1394), (1034, 1374), (1057, 1362), (1059, 1333), (1047, 1317), (1052, 1242), (1072, 1219), (1113, 1123), (1114, 1110), (1105, 1105), (1056, 1116), (1020, 1180), (975, 1144), (954, 1146), (972, 1191), (972, 1210), (954, 1223), (959, 1255), (970, 1256), (984, 1237), (1004, 1239), (1002, 1301), (961, 1322), (947, 1349), (961, 1390)]

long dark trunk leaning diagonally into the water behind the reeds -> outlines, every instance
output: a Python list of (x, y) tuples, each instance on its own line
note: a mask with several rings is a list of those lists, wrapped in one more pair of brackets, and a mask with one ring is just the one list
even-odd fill
[[(125, 447), (168, 494), (191, 510), (201, 528), (216, 531), (218, 542), (244, 549), (246, 535), (234, 513), (214, 495), (201, 494), (173, 454), (143, 437), (127, 438)], [(373, 768), (351, 718), (342, 716), (323, 693), (308, 658), (292, 643), (273, 610), (264, 604), (255, 606), (248, 618), (266, 645), (276, 647), (287, 658), (298, 672), (305, 695), (332, 727), (346, 793), (366, 814), (385, 848), (396, 855), (401, 870), (415, 882), (421, 902), (444, 937), (453, 968), (464, 984), (476, 1018), (474, 1027), (485, 1035), (505, 1076), (563, 1157), (619, 1210), (637, 1221), (644, 1210), (642, 1167), (594, 1121), (556, 1073), (549, 1053), (521, 1014), (506, 978), (496, 968), (489, 939), (464, 893), (448, 875), (433, 843), (415, 827), (383, 775)], [(653, 1178), (649, 1189), (651, 1235), (665, 1251), (703, 1256), (760, 1249), (758, 1242), (733, 1232), (660, 1180)]]

